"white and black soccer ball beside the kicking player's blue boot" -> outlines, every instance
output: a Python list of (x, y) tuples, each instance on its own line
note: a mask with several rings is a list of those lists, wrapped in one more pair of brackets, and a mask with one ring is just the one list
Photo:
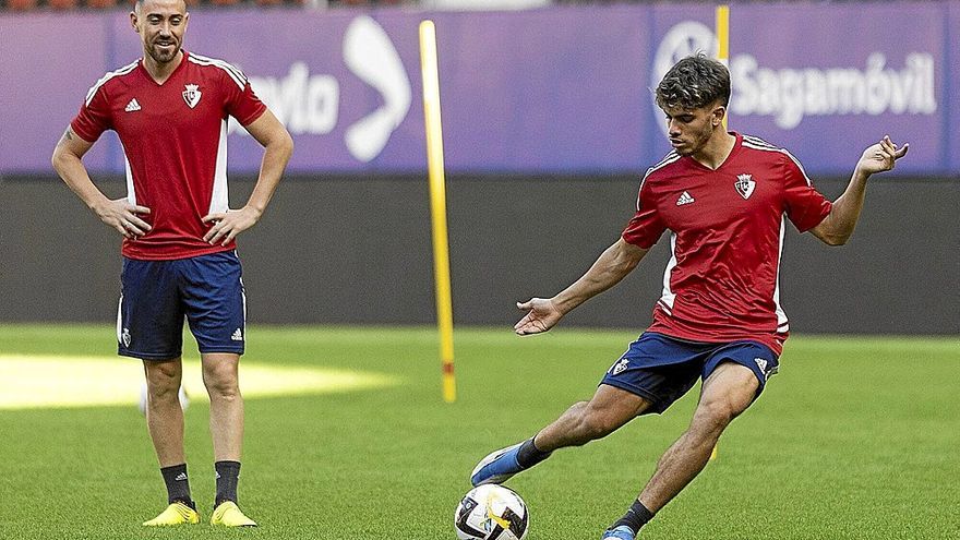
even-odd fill
[(496, 484), (473, 488), (454, 513), (460, 540), (524, 540), (529, 521), (520, 495)]

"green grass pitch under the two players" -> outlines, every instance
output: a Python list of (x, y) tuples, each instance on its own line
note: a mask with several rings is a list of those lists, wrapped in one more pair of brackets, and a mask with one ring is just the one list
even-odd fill
[[(0, 326), (0, 357), (109, 357), (111, 336), (108, 326)], [(433, 329), (251, 327), (247, 362), (362, 370), (400, 384), (248, 399), (240, 502), (261, 524), (249, 530), (207, 525), (203, 401), (187, 410), (187, 451), (204, 521), (172, 530), (140, 525), (166, 495), (133, 405), (0, 410), (0, 538), (453, 539), (477, 460), (589, 398), (635, 337), (458, 328), (458, 400), (448, 405)], [(795, 336), (780, 374), (720, 440), (719, 458), (641, 537), (958, 539), (958, 382), (956, 336)], [(696, 392), (513, 479), (530, 508), (529, 540), (599, 538), (683, 431)]]

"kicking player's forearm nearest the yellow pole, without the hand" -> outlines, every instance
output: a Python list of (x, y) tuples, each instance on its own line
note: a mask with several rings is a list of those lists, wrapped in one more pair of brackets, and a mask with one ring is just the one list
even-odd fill
[(619, 284), (627, 276), (646, 250), (631, 247), (620, 239), (603, 251), (590, 269), (573, 285), (553, 297), (552, 301), (563, 313), (569, 313), (577, 305)]

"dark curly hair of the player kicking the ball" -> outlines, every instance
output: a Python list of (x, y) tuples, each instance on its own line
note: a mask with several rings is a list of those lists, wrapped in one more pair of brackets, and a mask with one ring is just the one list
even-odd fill
[(676, 62), (657, 86), (657, 106), (661, 109), (697, 109), (719, 100), (730, 103), (730, 71), (703, 52)]

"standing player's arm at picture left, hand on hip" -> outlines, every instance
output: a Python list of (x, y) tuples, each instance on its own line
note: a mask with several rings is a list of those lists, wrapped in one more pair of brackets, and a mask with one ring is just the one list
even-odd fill
[(137, 214), (149, 214), (146, 206), (130, 204), (125, 197), (111, 201), (94, 185), (83, 165), (83, 156), (93, 143), (84, 141), (68, 127), (53, 149), (53, 169), (76, 195), (104, 221), (127, 238), (137, 238), (151, 229)]

